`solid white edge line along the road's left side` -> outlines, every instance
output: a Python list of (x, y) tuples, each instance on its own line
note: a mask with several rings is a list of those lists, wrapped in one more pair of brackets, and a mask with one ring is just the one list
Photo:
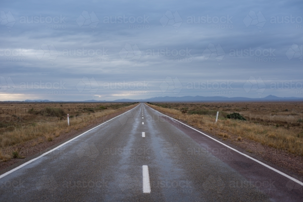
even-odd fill
[[(138, 106), (139, 106), (139, 105), (137, 105), (136, 107), (138, 107)], [(131, 110), (135, 109), (136, 107), (134, 107), (134, 108), (132, 108), (132, 109), (130, 109), (130, 110), (128, 110), (128, 111), (131, 111)], [(128, 112), (128, 111), (126, 111), (126, 112)], [(123, 114), (125, 114), (126, 112), (124, 112)], [(119, 116), (121, 116), (121, 115), (122, 115), (122, 114), (120, 114), (120, 115), (118, 115), (118, 116), (116, 116), (116, 117), (114, 117), (114, 118), (117, 118), (117, 117), (119, 117)], [(108, 121), (112, 121), (114, 118), (112, 118), (112, 119), (110, 119), (110, 120), (108, 120)], [(6, 173), (3, 173), (2, 175), (0, 175), (0, 179), (1, 179), (2, 177), (5, 177), (5, 176), (8, 175), (8, 174), (11, 174), (12, 172), (14, 172), (14, 171), (16, 171), (16, 170), (18, 170), (18, 169), (20, 169), (20, 168), (26, 166), (27, 164), (30, 164), (30, 163), (32, 163), (33, 161), (36, 161), (37, 159), (39, 159), (39, 158), (45, 156), (46, 154), (49, 154), (49, 153), (51, 153), (52, 151), (55, 151), (56, 149), (62, 147), (63, 145), (65, 145), (65, 144), (67, 144), (67, 143), (69, 143), (69, 142), (75, 140), (76, 138), (78, 138), (78, 137), (84, 135), (85, 133), (87, 133), (87, 132), (89, 132), (89, 131), (91, 131), (91, 130), (93, 130), (93, 129), (95, 129), (95, 128), (97, 128), (97, 127), (103, 125), (103, 124), (105, 124), (105, 123), (108, 122), (108, 121), (105, 121), (104, 123), (102, 123), (102, 124), (100, 124), (100, 125), (98, 125), (98, 126), (96, 126), (96, 127), (93, 127), (92, 129), (89, 129), (88, 131), (85, 131), (84, 133), (82, 133), (82, 134), (80, 134), (80, 135), (78, 135), (78, 136), (76, 136), (76, 137), (70, 139), (69, 141), (66, 141), (66, 142), (63, 143), (63, 144), (60, 144), (58, 147), (55, 147), (55, 148), (53, 148), (52, 150), (49, 150), (49, 151), (45, 152), (44, 154), (42, 154), (42, 155), (40, 155), (40, 156), (38, 156), (38, 157), (36, 157), (36, 158), (33, 158), (32, 160), (27, 161), (27, 162), (25, 162), (24, 164), (21, 164), (21, 165), (19, 165), (18, 167), (15, 167), (14, 169), (12, 169), (12, 170), (10, 170), (10, 171), (7, 171)]]

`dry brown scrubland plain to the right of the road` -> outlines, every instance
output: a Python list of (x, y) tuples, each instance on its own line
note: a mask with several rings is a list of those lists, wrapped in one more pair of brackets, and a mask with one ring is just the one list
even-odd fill
[[(149, 106), (226, 140), (247, 138), (303, 156), (302, 102), (148, 103)], [(218, 122), (215, 123), (217, 111)], [(244, 120), (227, 118), (241, 114)]]

